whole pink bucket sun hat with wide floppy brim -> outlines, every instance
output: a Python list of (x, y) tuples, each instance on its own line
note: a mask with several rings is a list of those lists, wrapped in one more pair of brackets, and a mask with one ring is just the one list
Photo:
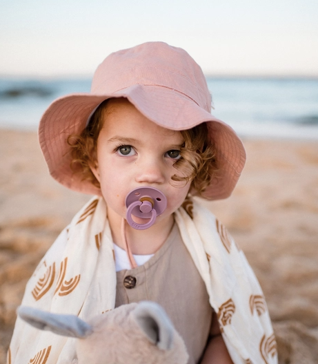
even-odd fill
[(218, 200), (232, 193), (244, 168), (244, 146), (230, 126), (211, 115), (211, 97), (199, 65), (185, 50), (163, 42), (110, 54), (98, 66), (90, 93), (73, 93), (50, 104), (39, 124), (39, 142), (55, 180), (74, 191), (101, 195), (70, 168), (67, 139), (79, 135), (97, 106), (111, 97), (126, 97), (164, 128), (180, 131), (206, 122), (219, 171), (202, 197)]

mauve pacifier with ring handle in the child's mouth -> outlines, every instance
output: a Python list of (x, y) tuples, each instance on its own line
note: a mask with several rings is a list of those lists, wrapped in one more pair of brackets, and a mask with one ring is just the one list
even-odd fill
[[(145, 230), (155, 224), (158, 215), (167, 207), (167, 198), (155, 187), (137, 187), (126, 196), (126, 219), (131, 227)], [(146, 224), (137, 224), (132, 220), (132, 215), (137, 218), (150, 219)]]

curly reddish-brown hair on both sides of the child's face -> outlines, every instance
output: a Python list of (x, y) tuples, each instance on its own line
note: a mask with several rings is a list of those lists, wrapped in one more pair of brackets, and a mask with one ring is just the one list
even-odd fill
[[(108, 101), (109, 99), (99, 104), (90, 118), (88, 126), (83, 129), (80, 135), (70, 135), (67, 140), (68, 145), (72, 147), (72, 162), (70, 164), (72, 171), (81, 173), (82, 180), (89, 180), (97, 188), (100, 188), (100, 184), (90, 166), (96, 166), (97, 140), (108, 113)], [(208, 139), (206, 123), (180, 132), (184, 139), (180, 149), (181, 158), (173, 166), (182, 171), (183, 176), (176, 173), (172, 175), (171, 180), (191, 182), (190, 189), (194, 189), (197, 195), (201, 195), (217, 173), (215, 147)]]

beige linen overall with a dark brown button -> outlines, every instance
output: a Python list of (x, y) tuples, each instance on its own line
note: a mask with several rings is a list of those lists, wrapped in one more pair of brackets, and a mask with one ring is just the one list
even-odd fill
[(177, 224), (148, 262), (117, 272), (116, 307), (141, 300), (159, 303), (188, 349), (188, 364), (197, 364), (206, 347), (212, 308), (206, 285), (186, 249)]

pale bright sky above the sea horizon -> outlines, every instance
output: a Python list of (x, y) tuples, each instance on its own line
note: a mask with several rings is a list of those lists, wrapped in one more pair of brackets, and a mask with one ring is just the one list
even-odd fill
[(91, 76), (166, 41), (206, 75), (318, 77), (317, 0), (0, 0), (0, 75)]

